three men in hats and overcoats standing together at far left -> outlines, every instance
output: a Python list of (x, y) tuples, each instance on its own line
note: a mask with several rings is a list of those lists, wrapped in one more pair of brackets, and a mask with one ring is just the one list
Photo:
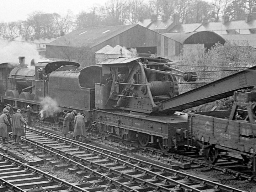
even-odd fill
[(2, 143), (8, 143), (7, 140), (10, 139), (8, 132), (12, 132), (15, 144), (21, 145), (21, 136), (25, 135), (23, 125), (27, 125), (27, 122), (21, 114), (21, 110), (18, 109), (16, 113), (13, 114), (12, 119), (10, 116), (11, 105), (7, 104), (3, 109), (0, 116), (0, 137), (2, 137)]

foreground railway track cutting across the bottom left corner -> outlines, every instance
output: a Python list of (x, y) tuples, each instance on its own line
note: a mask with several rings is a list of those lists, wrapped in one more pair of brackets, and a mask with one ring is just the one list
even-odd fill
[(4, 154), (0, 154), (0, 183), (0, 192), (86, 191)]

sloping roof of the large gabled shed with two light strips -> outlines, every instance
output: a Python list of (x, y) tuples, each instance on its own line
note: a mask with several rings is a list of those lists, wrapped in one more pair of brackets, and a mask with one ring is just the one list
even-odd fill
[(135, 27), (136, 25), (119, 25), (97, 28), (79, 29), (55, 41), (48, 43), (48, 46), (70, 46), (92, 48), (108, 39)]

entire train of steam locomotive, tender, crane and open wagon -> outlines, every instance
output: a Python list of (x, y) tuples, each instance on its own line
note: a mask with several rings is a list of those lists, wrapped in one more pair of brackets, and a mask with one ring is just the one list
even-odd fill
[[(158, 143), (163, 151), (196, 146), (207, 149), (204, 152), (212, 163), (220, 151), (236, 151), (249, 162), (256, 151), (254, 94), (246, 100), (248, 110), (242, 111), (244, 119), (236, 125), (239, 131), (232, 134), (234, 137), (227, 132), (233, 130), (234, 114), (241, 113), (238, 105), (225, 113), (233, 114), (224, 121), (228, 128), (216, 122), (223, 118), (218, 115), (222, 112), (178, 111), (231, 96), (241, 89), (254, 93), (255, 72), (256, 66), (180, 94), (178, 80), (196, 81), (197, 74), (175, 69), (164, 58), (110, 58), (99, 66), (83, 69), (75, 62), (39, 62), (34, 69), (19, 66), (11, 71), (12, 88), (6, 90), (2, 102), (15, 109), (30, 105), (39, 119), (53, 117), (57, 124), (63, 122), (65, 112), (75, 109), (85, 115), (87, 128), (94, 126), (127, 141), (138, 140), (143, 146)], [(123, 82), (118, 82), (118, 73), (125, 77)], [(248, 122), (246, 116), (252, 120)], [(232, 139), (239, 139), (239, 145), (246, 147), (226, 145)]]

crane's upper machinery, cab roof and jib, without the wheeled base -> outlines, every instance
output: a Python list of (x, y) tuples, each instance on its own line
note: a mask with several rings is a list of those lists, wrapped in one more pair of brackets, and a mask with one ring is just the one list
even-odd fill
[[(172, 68), (171, 63), (154, 58), (119, 58), (105, 60), (103, 75), (109, 73), (116, 81), (116, 73), (126, 74), (126, 82), (109, 87), (109, 100), (98, 108), (113, 107), (143, 113), (175, 112), (229, 97), (234, 91), (256, 86), (256, 66), (211, 82), (183, 94), (178, 92), (178, 78), (196, 81), (195, 72), (183, 72)], [(97, 103), (97, 101), (96, 101)], [(104, 105), (103, 104), (103, 105)]]

